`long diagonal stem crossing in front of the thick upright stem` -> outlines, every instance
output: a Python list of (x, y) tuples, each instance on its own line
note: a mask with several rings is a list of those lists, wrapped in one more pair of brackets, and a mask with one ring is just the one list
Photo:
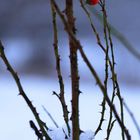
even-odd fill
[(95, 78), (95, 80), (96, 80), (98, 86), (100, 87), (100, 89), (101, 89), (103, 95), (105, 96), (106, 101), (107, 101), (109, 107), (112, 108), (112, 111), (113, 111), (113, 113), (114, 113), (114, 115), (115, 115), (115, 117), (116, 117), (116, 120), (118, 121), (120, 127), (123, 128), (127, 139), (128, 139), (128, 140), (131, 140), (131, 136), (130, 136), (128, 130), (126, 129), (124, 123), (121, 121), (121, 119), (120, 119), (120, 117), (119, 117), (119, 115), (118, 115), (118, 113), (117, 113), (117, 111), (116, 111), (115, 106), (111, 103), (111, 101), (110, 101), (110, 99), (109, 99), (109, 96), (108, 96), (107, 93), (106, 93), (106, 90), (105, 90), (104, 85), (102, 84), (100, 78), (98, 77), (98, 75), (97, 75), (95, 69), (92, 67), (92, 65), (91, 65), (91, 63), (89, 62), (88, 58), (86, 57), (86, 55), (85, 55), (85, 53), (84, 53), (84, 51), (83, 51), (83, 49), (82, 49), (82, 45), (81, 45), (80, 42), (76, 39), (75, 35), (73, 34), (73, 32), (71, 31), (71, 29), (69, 28), (69, 25), (68, 25), (68, 23), (67, 23), (67, 20), (65, 19), (64, 15), (61, 13), (61, 11), (60, 11), (59, 7), (57, 6), (55, 0), (51, 0), (51, 1), (52, 1), (53, 5), (54, 5), (54, 7), (55, 7), (55, 9), (56, 9), (56, 11), (57, 11), (57, 13), (58, 13), (58, 15), (60, 16), (62, 22), (64, 23), (64, 26), (65, 26), (65, 29), (66, 29), (68, 35), (71, 37), (71, 39), (73, 40), (73, 42), (75, 43), (75, 45), (78, 47), (78, 49), (79, 49), (79, 51), (80, 51), (80, 54), (81, 54), (83, 60), (85, 61), (85, 63), (86, 63), (86, 65), (88, 66), (88, 68), (90, 69), (90, 71), (91, 71), (93, 77)]

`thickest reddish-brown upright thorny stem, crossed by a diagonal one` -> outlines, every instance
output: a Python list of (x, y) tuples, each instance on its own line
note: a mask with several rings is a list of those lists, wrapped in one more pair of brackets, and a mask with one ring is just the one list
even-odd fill
[[(69, 30), (76, 34), (75, 18), (73, 15), (73, 0), (66, 0), (65, 14)], [(77, 44), (69, 35), (70, 47), (70, 66), (71, 66), (71, 85), (72, 85), (72, 139), (79, 140), (79, 75), (78, 75), (78, 58), (77, 58)]]

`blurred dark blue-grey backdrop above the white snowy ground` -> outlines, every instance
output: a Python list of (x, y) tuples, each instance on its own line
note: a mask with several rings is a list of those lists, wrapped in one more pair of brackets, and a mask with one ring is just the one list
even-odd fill
[[(61, 10), (64, 10), (64, 0), (58, 1)], [(91, 59), (97, 71), (103, 75), (103, 53), (96, 44), (88, 19), (75, 1), (75, 17), (77, 36), (81, 40), (84, 50)], [(139, 49), (139, 5), (138, 0), (107, 0), (107, 13), (109, 22), (120, 31), (140, 52)], [(100, 7), (88, 7), (95, 26), (102, 34), (102, 26), (94, 16), (101, 14)], [(97, 11), (94, 11), (97, 9)], [(55, 59), (53, 54), (53, 31), (48, 0), (1, 0), (0, 6), (0, 39), (2, 40), (6, 54), (18, 73), (36, 76), (53, 77), (55, 75)], [(86, 19), (86, 20), (85, 20)], [(67, 34), (64, 32), (63, 24), (58, 18), (59, 47), (64, 73), (69, 71), (69, 52)], [(135, 58), (116, 38), (113, 38), (116, 69), (121, 82), (126, 84), (139, 84), (140, 62)], [(1, 63), (1, 61), (0, 61)], [(5, 69), (0, 68), (0, 75)], [(82, 77), (90, 79), (87, 75), (88, 69), (79, 57), (80, 73)], [(124, 67), (125, 66), (125, 67)], [(86, 74), (85, 74), (86, 73)], [(68, 73), (67, 73), (68, 74)]]

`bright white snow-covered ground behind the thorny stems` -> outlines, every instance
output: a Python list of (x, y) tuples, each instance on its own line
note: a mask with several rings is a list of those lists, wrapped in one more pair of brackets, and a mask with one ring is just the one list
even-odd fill
[[(21, 75), (21, 82), (28, 97), (33, 101), (37, 107), (41, 118), (46, 122), (47, 126), (54, 131), (50, 135), (55, 136), (53, 140), (63, 140), (62, 127), (64, 128), (64, 121), (62, 117), (62, 110), (60, 102), (57, 97), (52, 95), (52, 91), (59, 91), (57, 80), (45, 79), (39, 77), (27, 77)], [(102, 100), (102, 94), (98, 87), (93, 82), (82, 82), (80, 95), (80, 127), (87, 131), (81, 136), (82, 140), (88, 140), (87, 136), (92, 136), (100, 118), (101, 107), (99, 104)], [(70, 110), (70, 84), (65, 85), (66, 100)], [(133, 111), (137, 121), (140, 122), (140, 88), (127, 87), (121, 85), (121, 93), (129, 108)], [(118, 102), (116, 102), (117, 104)], [(46, 107), (49, 113), (54, 117), (60, 129), (56, 129), (49, 116), (44, 112), (42, 105)], [(27, 107), (25, 101), (21, 96), (18, 96), (18, 90), (15, 82), (10, 75), (0, 77), (0, 139), (1, 140), (36, 140), (34, 131), (29, 126), (29, 120), (34, 120), (34, 117)], [(108, 113), (105, 118), (107, 119)], [(132, 135), (133, 140), (139, 140), (140, 137), (136, 128), (125, 111), (125, 122), (127, 128)], [(103, 140), (106, 137), (107, 121), (104, 121), (103, 130), (95, 137), (96, 140)], [(52, 133), (55, 133), (52, 134)], [(111, 140), (120, 140), (121, 131), (118, 124), (115, 124), (114, 130), (111, 134)]]

